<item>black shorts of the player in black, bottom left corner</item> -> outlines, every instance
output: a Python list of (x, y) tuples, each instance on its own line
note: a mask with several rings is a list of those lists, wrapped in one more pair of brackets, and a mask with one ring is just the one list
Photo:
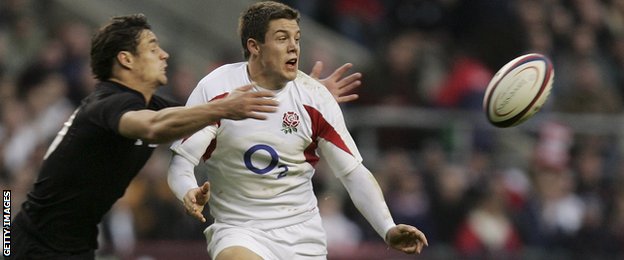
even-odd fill
[(5, 259), (93, 260), (95, 251), (59, 252), (47, 246), (41, 238), (28, 229), (28, 217), (18, 213), (11, 223), (11, 256)]

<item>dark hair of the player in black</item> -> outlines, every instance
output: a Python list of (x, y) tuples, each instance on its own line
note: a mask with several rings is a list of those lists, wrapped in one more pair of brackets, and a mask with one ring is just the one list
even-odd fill
[(150, 30), (143, 14), (111, 18), (91, 39), (91, 71), (98, 80), (107, 80), (113, 73), (115, 57), (120, 51), (137, 53), (141, 33)]

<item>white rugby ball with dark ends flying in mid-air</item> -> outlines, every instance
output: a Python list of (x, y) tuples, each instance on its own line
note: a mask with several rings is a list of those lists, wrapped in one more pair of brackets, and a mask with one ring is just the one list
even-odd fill
[(488, 84), (483, 109), (497, 127), (511, 127), (539, 111), (552, 88), (555, 71), (539, 53), (525, 54), (503, 66)]

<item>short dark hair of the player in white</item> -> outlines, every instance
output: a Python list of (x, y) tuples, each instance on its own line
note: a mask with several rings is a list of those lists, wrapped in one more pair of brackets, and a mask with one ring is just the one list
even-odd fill
[(299, 11), (282, 3), (263, 1), (249, 6), (241, 13), (238, 19), (238, 35), (241, 38), (245, 59), (251, 55), (247, 49), (247, 40), (251, 38), (264, 43), (269, 22), (277, 19), (296, 20), (299, 23)]

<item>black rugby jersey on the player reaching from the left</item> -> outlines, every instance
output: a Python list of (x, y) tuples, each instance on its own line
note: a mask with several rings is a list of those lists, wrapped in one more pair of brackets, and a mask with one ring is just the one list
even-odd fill
[(146, 104), (135, 90), (98, 83), (48, 148), (22, 207), (29, 230), (57, 250), (97, 248), (97, 224), (156, 147), (119, 134), (121, 116), (177, 105), (157, 95)]

